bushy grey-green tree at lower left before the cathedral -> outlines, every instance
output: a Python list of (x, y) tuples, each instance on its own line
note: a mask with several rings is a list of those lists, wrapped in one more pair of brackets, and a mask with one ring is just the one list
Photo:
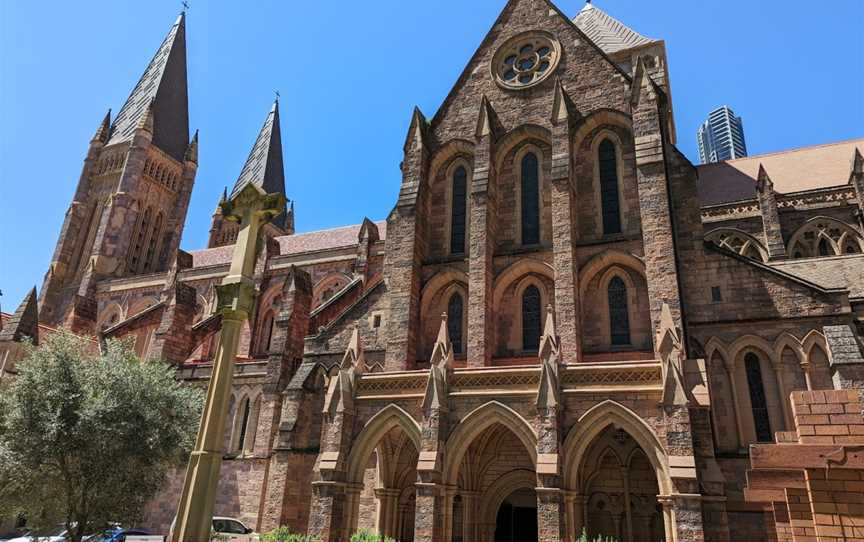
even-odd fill
[(203, 406), (161, 362), (131, 345), (58, 332), (29, 348), (0, 389), (0, 517), (63, 523), (72, 542), (110, 522), (135, 522), (182, 464)]

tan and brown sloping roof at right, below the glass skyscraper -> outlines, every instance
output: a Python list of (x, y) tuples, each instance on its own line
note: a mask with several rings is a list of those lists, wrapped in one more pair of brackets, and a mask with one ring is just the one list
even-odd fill
[(719, 205), (756, 197), (760, 164), (781, 194), (843, 186), (849, 182), (856, 147), (864, 139), (726, 160), (696, 167), (702, 205)]

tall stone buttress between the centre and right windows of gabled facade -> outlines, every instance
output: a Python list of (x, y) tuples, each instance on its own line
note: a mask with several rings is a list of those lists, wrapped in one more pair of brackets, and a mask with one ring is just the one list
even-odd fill
[(552, 113), (552, 253), (555, 273), (555, 321), (565, 363), (581, 358), (581, 300), (579, 271), (574, 247), (578, 231), (576, 189), (571, 178), (573, 154), (570, 134), (570, 99), (556, 82)]

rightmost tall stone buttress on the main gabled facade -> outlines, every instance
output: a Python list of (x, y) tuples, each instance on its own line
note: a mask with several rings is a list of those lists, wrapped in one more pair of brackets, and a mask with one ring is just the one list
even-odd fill
[[(669, 305), (675, 327), (682, 329), (681, 293), (678, 288), (675, 232), (666, 168), (666, 140), (661, 94), (645, 69), (642, 57), (632, 82), (633, 136), (645, 278), (653, 336), (660, 328), (663, 304)], [(657, 345), (655, 345), (655, 348)]]

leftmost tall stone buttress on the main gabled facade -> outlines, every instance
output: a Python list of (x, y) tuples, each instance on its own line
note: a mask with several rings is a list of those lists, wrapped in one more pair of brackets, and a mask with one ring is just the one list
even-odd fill
[(414, 109), (405, 141), (402, 187), (396, 208), (387, 218), (384, 273), (390, 297), (384, 368), (401, 371), (417, 361), (420, 326), (420, 262), (425, 252), (425, 186), (429, 150), (426, 118)]

